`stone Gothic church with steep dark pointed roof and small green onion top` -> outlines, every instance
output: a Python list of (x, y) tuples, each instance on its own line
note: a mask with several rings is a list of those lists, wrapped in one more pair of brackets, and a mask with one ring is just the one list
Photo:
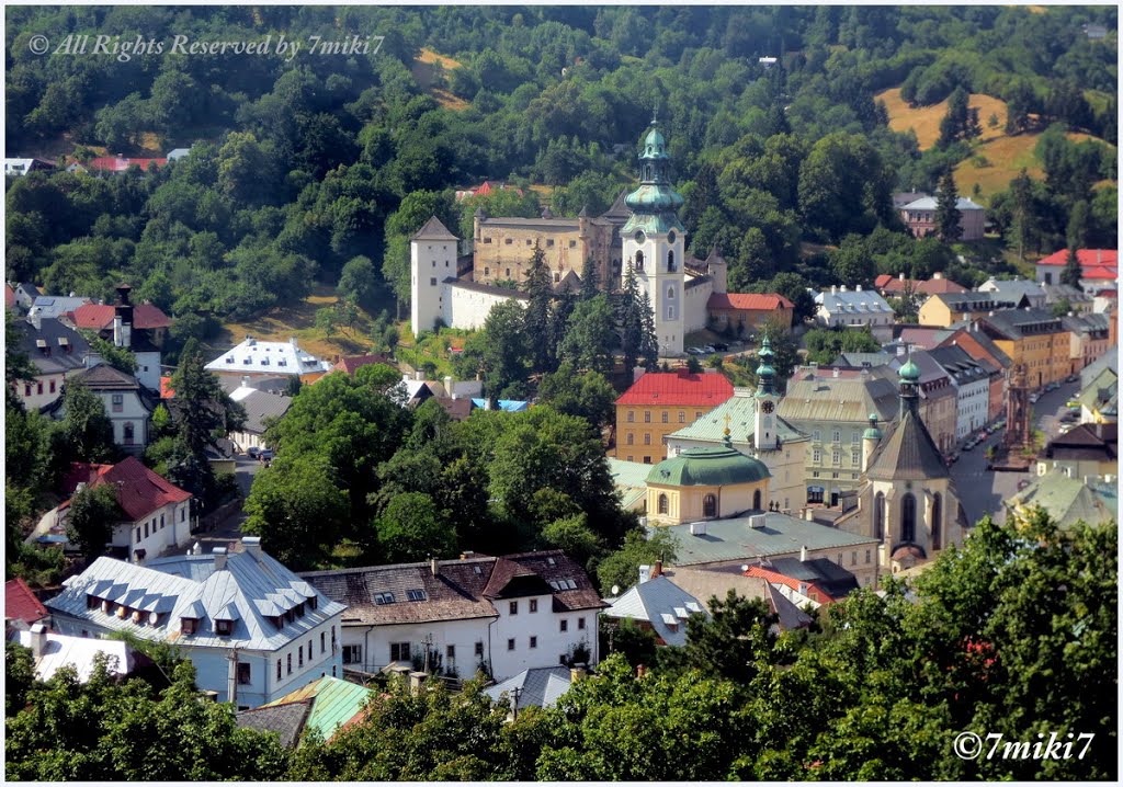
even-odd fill
[(877, 539), (882, 568), (893, 574), (961, 546), (967, 530), (955, 482), (919, 414), (920, 368), (910, 358), (897, 375), (901, 415), (885, 433), (870, 415), (858, 506), (834, 523)]

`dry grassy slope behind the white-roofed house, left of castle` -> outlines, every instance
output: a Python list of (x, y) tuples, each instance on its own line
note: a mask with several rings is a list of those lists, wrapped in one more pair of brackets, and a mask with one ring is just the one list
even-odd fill
[(322, 328), (316, 327), (316, 311), (334, 305), (338, 300), (335, 287), (318, 286), (312, 295), (298, 305), (274, 306), (255, 320), (222, 326), (212, 345), (216, 348), (234, 346), (248, 333), (264, 341), (287, 341), (295, 338), (302, 349), (328, 360), (337, 355), (369, 353), (372, 319), (362, 309), (354, 327), (339, 326), (330, 337)]

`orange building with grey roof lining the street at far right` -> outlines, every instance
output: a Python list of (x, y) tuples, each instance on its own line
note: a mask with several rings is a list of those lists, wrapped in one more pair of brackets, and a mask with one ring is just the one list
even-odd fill
[(980, 318), (984, 333), (1010, 356), (1024, 364), (1026, 382), (1040, 388), (1071, 374), (1071, 337), (1060, 318), (1043, 309), (1007, 309)]

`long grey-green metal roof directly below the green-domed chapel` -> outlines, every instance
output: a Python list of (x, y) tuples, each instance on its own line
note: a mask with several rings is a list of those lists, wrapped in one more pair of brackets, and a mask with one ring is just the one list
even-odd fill
[(876, 547), (877, 539), (855, 536), (844, 530), (807, 522), (776, 511), (763, 514), (764, 527), (754, 528), (752, 518), (711, 520), (705, 532), (691, 534), (690, 524), (672, 524), (664, 529), (677, 541), (675, 565), (695, 566), (711, 562), (749, 562), (758, 557), (798, 552), (801, 547), (843, 549)]

